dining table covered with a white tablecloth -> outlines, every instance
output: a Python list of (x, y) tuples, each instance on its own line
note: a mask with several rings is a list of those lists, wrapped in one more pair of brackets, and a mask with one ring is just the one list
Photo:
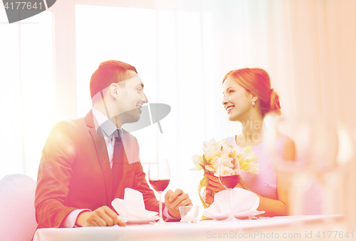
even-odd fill
[(41, 228), (34, 241), (159, 240), (356, 240), (344, 215), (258, 217), (246, 220), (199, 220), (130, 224), (125, 227)]

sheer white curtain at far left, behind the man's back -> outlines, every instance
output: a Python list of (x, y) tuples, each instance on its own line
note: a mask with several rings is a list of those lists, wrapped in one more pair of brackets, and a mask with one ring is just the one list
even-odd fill
[(8, 24), (0, 9), (0, 179), (36, 180), (41, 150), (54, 124), (52, 14)]

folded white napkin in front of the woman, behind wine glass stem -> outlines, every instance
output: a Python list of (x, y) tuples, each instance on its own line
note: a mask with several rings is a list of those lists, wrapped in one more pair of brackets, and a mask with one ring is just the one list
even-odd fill
[[(258, 212), (256, 209), (260, 203), (258, 195), (244, 190), (234, 188), (232, 190), (232, 213), (236, 215), (253, 215)], [(222, 216), (230, 214), (230, 193), (229, 190), (222, 190), (214, 196), (214, 202), (210, 207), (204, 209), (203, 215), (206, 217)]]

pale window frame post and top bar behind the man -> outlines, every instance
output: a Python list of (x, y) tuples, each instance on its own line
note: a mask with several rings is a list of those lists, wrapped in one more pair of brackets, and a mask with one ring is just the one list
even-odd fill
[(155, 9), (155, 0), (61, 0), (53, 14), (53, 81), (55, 121), (78, 118), (75, 5)]

